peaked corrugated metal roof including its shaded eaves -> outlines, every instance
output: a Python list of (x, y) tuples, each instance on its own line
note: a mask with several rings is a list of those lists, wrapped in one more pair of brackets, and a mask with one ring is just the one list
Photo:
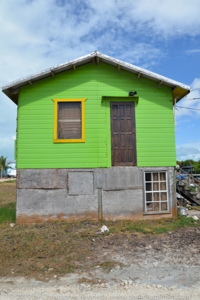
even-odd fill
[[(91, 62), (91, 60), (94, 60), (95, 63), (98, 63), (98, 60), (100, 60), (102, 62), (111, 64), (114, 66), (118, 66), (119, 68), (122, 68), (129, 72), (136, 73), (139, 76), (143, 76), (143, 77), (158, 81), (159, 84), (169, 85), (172, 88), (180, 87), (186, 91), (186, 94), (190, 92), (189, 85), (175, 81), (173, 79), (167, 78), (167, 77), (159, 75), (157, 73), (151, 72), (149, 70), (146, 70), (142, 67), (133, 65), (131, 63), (127, 63), (122, 60), (113, 58), (111, 56), (102, 54), (98, 51), (94, 51), (90, 54), (81, 56), (79, 58), (69, 60), (64, 63), (47, 68), (45, 70), (33, 73), (31, 75), (28, 75), (28, 76), (25, 76), (22, 78), (19, 78), (17, 80), (14, 80), (12, 82), (2, 85), (1, 89), (8, 97), (10, 97), (12, 100), (14, 100), (14, 96), (15, 96), (14, 93), (16, 93), (18, 91), (18, 88), (20, 86), (25, 85), (25, 84), (32, 84), (32, 82), (40, 80), (40, 79), (48, 77), (48, 76), (54, 76), (56, 73), (63, 72), (65, 70), (71, 69), (73, 67), (78, 67), (79, 65), (82, 65), (85, 63), (89, 63), (89, 62)], [(11, 94), (12, 94), (12, 96), (11, 96)], [(183, 92), (183, 95), (184, 94), (185, 93)]]

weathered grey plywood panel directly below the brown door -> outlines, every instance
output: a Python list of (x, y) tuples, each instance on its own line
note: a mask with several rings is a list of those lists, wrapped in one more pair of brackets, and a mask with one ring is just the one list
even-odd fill
[(95, 168), (94, 187), (104, 190), (142, 188), (142, 170), (137, 166)]

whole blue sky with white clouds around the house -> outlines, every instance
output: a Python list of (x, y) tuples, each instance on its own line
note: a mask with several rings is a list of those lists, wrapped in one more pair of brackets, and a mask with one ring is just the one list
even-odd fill
[[(200, 87), (199, 0), (7, 0), (0, 11), (0, 85), (98, 50)], [(2, 92), (0, 112), (0, 155), (13, 159), (16, 105)], [(178, 107), (178, 159), (200, 159), (199, 132), (200, 110)]]

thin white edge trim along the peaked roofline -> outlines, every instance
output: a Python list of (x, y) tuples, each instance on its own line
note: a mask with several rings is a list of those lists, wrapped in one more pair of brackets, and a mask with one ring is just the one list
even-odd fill
[(98, 56), (98, 57), (103, 58), (103, 59), (108, 60), (108, 61), (113, 61), (113, 62), (115, 62), (116, 64), (120, 64), (121, 66), (124, 66), (124, 67), (126, 67), (126, 68), (128, 68), (128, 69), (130, 69), (130, 70), (134, 70), (134, 71), (136, 71), (136, 72), (137, 72), (137, 71), (138, 71), (138, 72), (141, 72), (141, 75), (143, 75), (143, 74), (144, 74), (144, 75), (148, 75), (148, 76), (150, 76), (150, 77), (152, 77), (152, 78), (154, 78), (154, 79), (162, 80), (162, 81), (164, 81), (164, 82), (166, 82), (166, 83), (170, 83), (170, 84), (173, 84), (173, 85), (175, 85), (175, 86), (180, 86), (180, 87), (183, 87), (184, 89), (190, 90), (190, 86), (189, 86), (189, 85), (186, 85), (186, 84), (184, 84), (184, 83), (178, 82), (178, 81), (173, 80), (173, 79), (170, 79), (170, 78), (168, 78), (168, 77), (159, 75), (159, 74), (157, 74), (157, 73), (154, 73), (154, 72), (149, 71), (149, 70), (147, 70), (147, 69), (144, 69), (144, 68), (142, 68), (142, 67), (136, 66), (136, 65), (134, 65), (134, 64), (127, 63), (127, 62), (125, 62), (125, 61), (116, 59), (116, 58), (114, 58), (114, 57), (111, 57), (111, 56), (102, 54), (102, 53), (100, 53), (100, 52), (98, 52), (98, 51), (94, 51), (94, 52), (89, 53), (89, 54), (87, 54), (87, 55), (84, 55), (84, 56), (75, 58), (75, 59), (73, 59), (73, 60), (66, 61), (66, 62), (64, 62), (64, 63), (60, 63), (60, 64), (58, 64), (58, 65), (54, 65), (54, 66), (52, 66), (52, 67), (50, 67), (50, 68), (47, 68), (47, 69), (44, 69), (44, 70), (42, 70), (42, 71), (39, 71), (39, 72), (30, 74), (30, 75), (28, 75), (28, 76), (19, 78), (19, 79), (17, 79), (17, 80), (11, 81), (11, 82), (9, 82), (9, 83), (7, 83), (7, 84), (4, 84), (4, 85), (0, 86), (0, 88), (3, 90), (3, 89), (6, 89), (6, 88), (9, 88), (9, 87), (12, 87), (12, 86), (14, 86), (14, 85), (18, 85), (18, 84), (20, 84), (20, 82), (22, 83), (22, 82), (25, 82), (25, 81), (27, 81), (27, 80), (30, 80), (30, 79), (33, 79), (33, 78), (37, 78), (37, 77), (39, 77), (39, 76), (41, 76), (41, 75), (45, 75), (45, 74), (48, 74), (48, 73), (50, 74), (51, 71), (56, 71), (56, 70), (62, 69), (62, 68), (67, 67), (67, 66), (69, 66), (69, 65), (71, 65), (71, 64), (73, 64), (73, 63), (81, 62), (81, 61), (86, 60), (86, 59), (89, 58), (89, 57), (92, 58), (92, 57), (95, 57), (95, 56)]

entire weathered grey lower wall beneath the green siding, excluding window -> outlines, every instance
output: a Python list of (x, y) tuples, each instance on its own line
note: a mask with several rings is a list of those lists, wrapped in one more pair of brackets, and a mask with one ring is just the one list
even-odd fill
[(17, 169), (16, 221), (49, 219), (146, 219), (170, 213), (143, 214), (143, 170), (169, 170), (173, 211), (173, 167), (90, 169)]

